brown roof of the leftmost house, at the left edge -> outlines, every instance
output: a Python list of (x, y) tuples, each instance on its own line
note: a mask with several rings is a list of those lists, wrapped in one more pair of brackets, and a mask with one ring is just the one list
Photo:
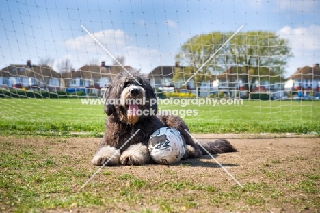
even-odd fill
[(0, 77), (55, 77), (61, 75), (53, 70), (50, 66), (26, 65), (26, 64), (10, 64), (0, 71)]

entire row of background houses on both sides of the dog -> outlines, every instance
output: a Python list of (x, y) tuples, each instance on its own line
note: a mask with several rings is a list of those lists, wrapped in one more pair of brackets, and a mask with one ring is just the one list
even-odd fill
[[(133, 69), (124, 66), (126, 70)], [(77, 71), (57, 73), (49, 66), (27, 64), (11, 64), (0, 71), (0, 88), (18, 88), (25, 90), (59, 91), (72, 88), (84, 88), (87, 93), (98, 94), (112, 79), (124, 71), (122, 66), (85, 65)], [(185, 73), (186, 67), (158, 66), (148, 75), (153, 88), (159, 90), (173, 90), (184, 88), (198, 90), (200, 96), (208, 96), (211, 92), (224, 92), (227, 96), (245, 96), (248, 92), (282, 94), (285, 91), (303, 90), (304, 95), (320, 96), (320, 67), (319, 64), (298, 68), (289, 78), (282, 79), (276, 73), (268, 71), (267, 75), (248, 73), (243, 67), (230, 67), (219, 75), (209, 75), (197, 86), (193, 80), (183, 86), (187, 80), (174, 80), (174, 73)]]

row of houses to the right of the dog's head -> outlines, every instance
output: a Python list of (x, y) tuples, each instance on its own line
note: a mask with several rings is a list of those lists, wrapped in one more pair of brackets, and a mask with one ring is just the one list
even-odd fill
[[(174, 81), (174, 73), (185, 73), (185, 67), (158, 66), (149, 74), (151, 84), (155, 88), (181, 88), (184, 81)], [(186, 79), (185, 79), (186, 80)], [(196, 90), (192, 80), (188, 82), (187, 89)], [(319, 64), (297, 68), (290, 77), (284, 79), (275, 71), (267, 71), (265, 75), (248, 73), (244, 67), (230, 67), (224, 73), (211, 75), (202, 82), (200, 96), (207, 96), (211, 92), (224, 92), (229, 97), (246, 96), (248, 92), (271, 93), (281, 97), (285, 92), (302, 90), (304, 95), (320, 97), (320, 67)]]

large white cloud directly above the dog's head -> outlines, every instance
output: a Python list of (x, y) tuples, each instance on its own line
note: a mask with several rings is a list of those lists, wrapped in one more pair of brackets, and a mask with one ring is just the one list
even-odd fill
[[(143, 73), (150, 73), (153, 68), (161, 65), (162, 62), (168, 64), (168, 57), (164, 56), (161, 60), (161, 52), (157, 49), (149, 49), (134, 45), (135, 40), (121, 30), (107, 29), (92, 34), (101, 44), (112, 54), (124, 56), (125, 64), (133, 68), (141, 69)], [(112, 63), (111, 57), (100, 47), (91, 36), (78, 36), (74, 39), (66, 40), (65, 46), (68, 49), (70, 62), (83, 66), (88, 64), (90, 59), (99, 58), (106, 63)], [(77, 67), (77, 68), (79, 68)], [(76, 68), (76, 67), (75, 67)]]

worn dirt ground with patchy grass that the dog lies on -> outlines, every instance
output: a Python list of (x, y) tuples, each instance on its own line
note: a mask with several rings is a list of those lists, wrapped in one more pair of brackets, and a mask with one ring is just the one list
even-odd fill
[[(5, 177), (1, 179), (4, 184), (0, 185), (0, 195), (4, 202), (0, 208), (7, 212), (320, 211), (320, 138), (286, 134), (194, 136), (200, 142), (228, 138), (238, 152), (222, 154), (216, 159), (244, 189), (209, 155), (204, 155), (172, 166), (106, 167), (78, 191), (98, 169), (90, 160), (101, 138), (0, 136), (2, 156), (13, 156), (12, 159), (19, 158), (23, 162), (21, 166), (19, 162), (8, 162), (9, 166), (3, 163), (1, 169)], [(21, 153), (29, 155), (23, 158)], [(26, 158), (30, 160), (26, 162)], [(36, 165), (43, 162), (44, 166), (32, 167), (31, 162), (38, 163)], [(29, 174), (25, 173), (27, 166), (33, 169)], [(39, 199), (34, 205), (23, 203), (29, 197), (21, 197), (20, 202), (10, 197), (15, 195), (11, 189), (16, 185), (5, 183), (10, 176), (18, 178), (21, 174), (27, 176), (19, 183), (29, 184), (29, 191), (38, 191), (34, 197), (30, 195), (31, 200)], [(41, 174), (44, 175), (39, 181), (30, 180), (33, 184), (25, 180)], [(64, 183), (64, 188), (51, 188), (46, 184), (50, 176), (57, 174), (62, 179), (56, 184)], [(42, 195), (47, 197), (42, 198)]]

